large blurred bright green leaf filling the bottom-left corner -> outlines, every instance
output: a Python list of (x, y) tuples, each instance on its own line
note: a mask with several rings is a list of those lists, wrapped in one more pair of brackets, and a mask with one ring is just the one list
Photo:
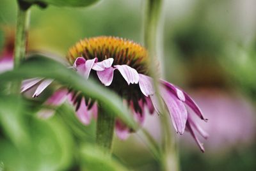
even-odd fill
[(42, 121), (28, 115), (28, 101), (0, 94), (0, 161), (6, 170), (66, 170), (74, 142), (62, 119)]

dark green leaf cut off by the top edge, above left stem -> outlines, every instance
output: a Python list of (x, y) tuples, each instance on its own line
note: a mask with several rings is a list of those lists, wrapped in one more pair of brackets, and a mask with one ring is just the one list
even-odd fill
[(100, 0), (20, 0), (29, 4), (39, 4), (40, 6), (47, 6), (52, 4), (54, 6), (72, 6), (72, 7), (84, 7), (97, 3)]

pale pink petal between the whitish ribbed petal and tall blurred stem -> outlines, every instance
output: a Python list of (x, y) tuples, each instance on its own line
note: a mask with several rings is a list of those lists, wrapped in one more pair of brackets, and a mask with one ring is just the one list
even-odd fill
[(154, 83), (152, 78), (148, 77), (147, 75), (139, 74), (140, 80), (140, 90), (141, 92), (148, 97), (148, 95), (153, 95), (155, 93), (154, 90)]

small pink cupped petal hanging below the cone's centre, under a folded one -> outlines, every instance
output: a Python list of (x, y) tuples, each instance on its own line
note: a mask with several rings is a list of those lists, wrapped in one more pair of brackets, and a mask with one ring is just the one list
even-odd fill
[(105, 86), (109, 86), (113, 81), (114, 71), (116, 68), (105, 68), (104, 71), (97, 71), (100, 82)]

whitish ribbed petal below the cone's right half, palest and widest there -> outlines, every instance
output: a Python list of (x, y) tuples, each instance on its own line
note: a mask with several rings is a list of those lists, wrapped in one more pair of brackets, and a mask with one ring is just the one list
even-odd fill
[(126, 80), (127, 84), (138, 84), (139, 82), (139, 74), (134, 68), (128, 66), (126, 64), (123, 65), (115, 65), (115, 68), (120, 71), (121, 75)]

